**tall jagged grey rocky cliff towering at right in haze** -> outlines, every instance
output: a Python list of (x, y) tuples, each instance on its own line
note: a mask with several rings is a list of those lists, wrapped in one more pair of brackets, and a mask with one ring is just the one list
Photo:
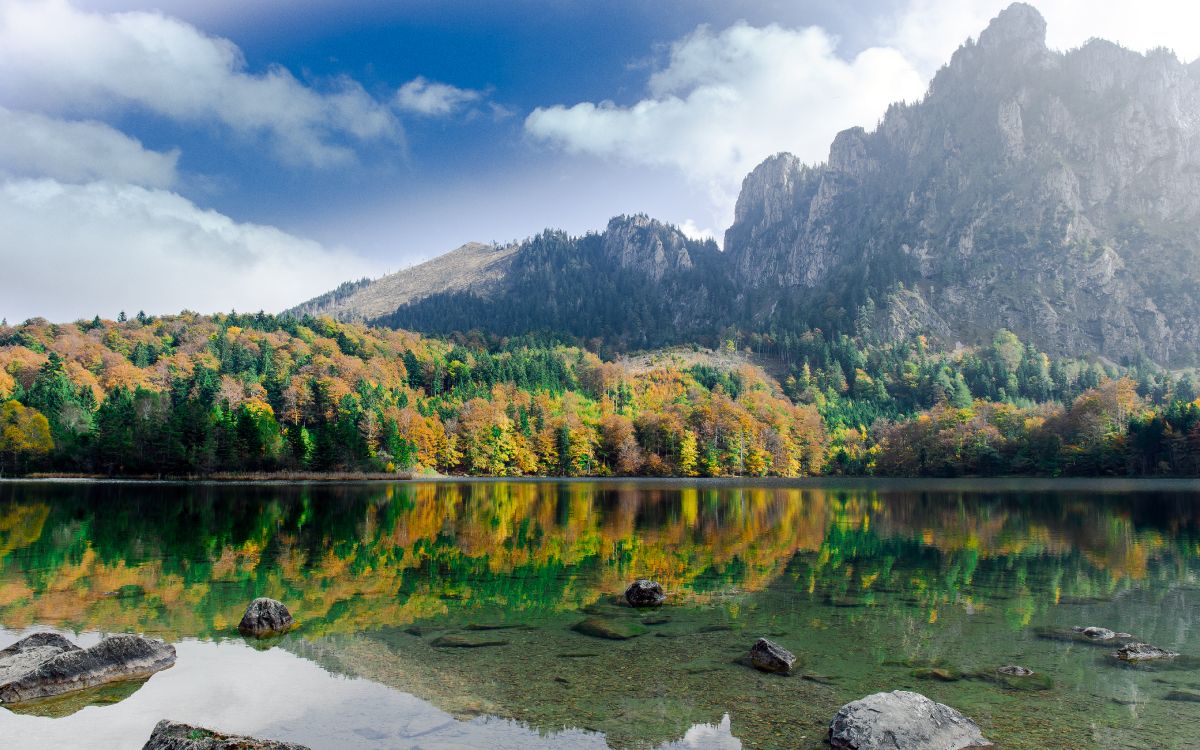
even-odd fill
[(1009, 328), (1050, 352), (1193, 361), (1200, 65), (1054, 52), (1013, 5), (827, 163), (760, 164), (725, 247), (758, 322), (870, 298), (881, 334)]

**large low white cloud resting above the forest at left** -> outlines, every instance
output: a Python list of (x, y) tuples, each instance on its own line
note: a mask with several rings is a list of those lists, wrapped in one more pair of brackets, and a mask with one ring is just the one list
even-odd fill
[(277, 311), (372, 270), (175, 193), (112, 182), (8, 180), (0, 227), (0, 316), (10, 320), (113, 316), (114, 307)]

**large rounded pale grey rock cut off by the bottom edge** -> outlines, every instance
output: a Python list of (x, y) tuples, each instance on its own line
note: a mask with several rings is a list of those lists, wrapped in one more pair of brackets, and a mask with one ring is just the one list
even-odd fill
[(829, 725), (834, 750), (962, 750), (989, 748), (979, 726), (918, 692), (876, 692), (846, 703)]

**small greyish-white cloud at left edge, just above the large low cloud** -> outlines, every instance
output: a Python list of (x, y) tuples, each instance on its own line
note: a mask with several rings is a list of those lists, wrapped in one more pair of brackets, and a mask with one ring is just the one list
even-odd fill
[(67, 182), (97, 179), (168, 187), (179, 151), (151, 151), (103, 122), (65, 121), (0, 107), (0, 173)]

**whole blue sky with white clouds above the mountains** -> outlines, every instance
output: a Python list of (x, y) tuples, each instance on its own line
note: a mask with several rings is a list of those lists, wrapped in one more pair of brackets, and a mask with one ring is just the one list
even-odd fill
[[(468, 241), (646, 212), (919, 98), (1003, 0), (0, 0), (0, 318), (277, 312)], [(1193, 0), (1048, 42), (1200, 56)]]

